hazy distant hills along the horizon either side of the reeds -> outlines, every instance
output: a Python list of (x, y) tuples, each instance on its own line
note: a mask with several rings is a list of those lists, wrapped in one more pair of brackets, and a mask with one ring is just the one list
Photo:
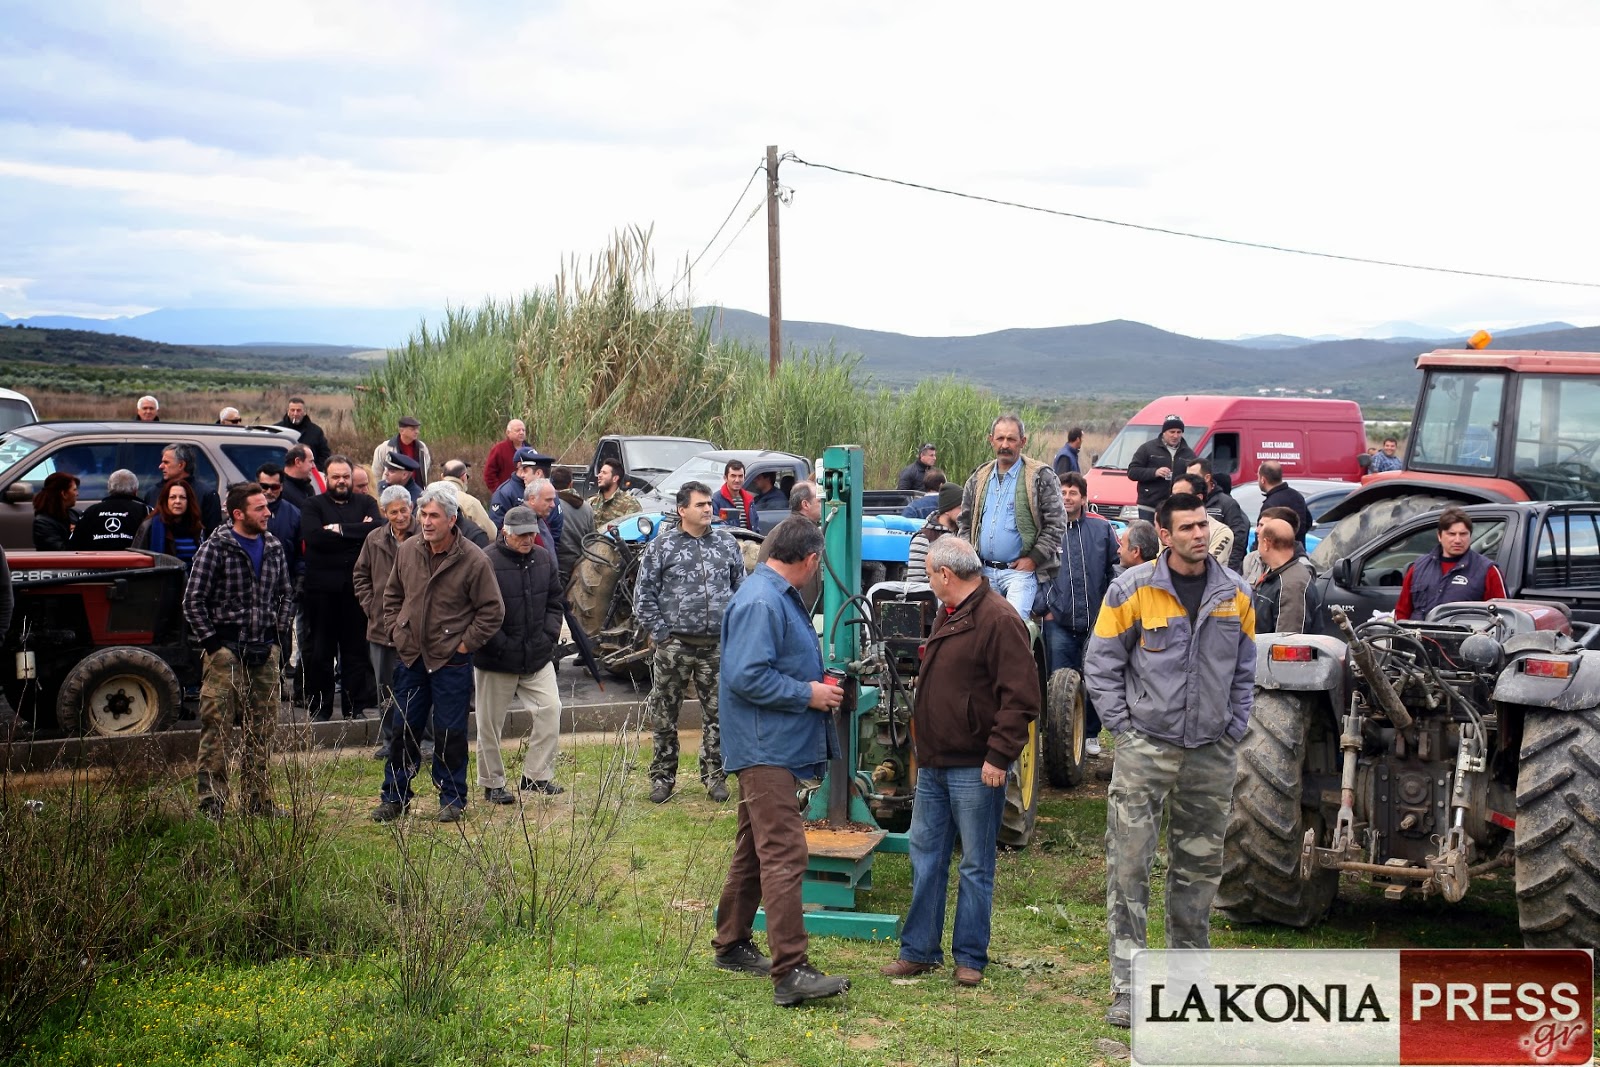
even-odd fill
[[(741, 339), (766, 347), (766, 317), (738, 309), (699, 307), (702, 322), (710, 318), (717, 338)], [(173, 309), (128, 318), (34, 317), (11, 320), (0, 315), (0, 326), (24, 325), (45, 330), (126, 334), (168, 346), (250, 346), (229, 354), (229, 362), (272, 358), (269, 346), (294, 346), (290, 358), (317, 358), (331, 370), (362, 349), (398, 347), (422, 318), (437, 322), (421, 309)], [(1384, 323), (1374, 333), (1392, 330), (1429, 333), (1418, 323)], [(22, 333), (30, 333), (22, 331)], [(888, 384), (910, 384), (934, 374), (955, 374), (1003, 395), (1098, 395), (1149, 397), (1162, 392), (1256, 392), (1258, 389), (1328, 390), (1336, 397), (1362, 402), (1410, 403), (1416, 397), (1418, 354), (1438, 347), (1459, 347), (1464, 336), (1419, 336), (1398, 339), (1298, 338), (1266, 334), (1235, 341), (1208, 341), (1157, 330), (1138, 322), (1114, 320), (1083, 326), (1000, 330), (962, 338), (915, 338), (880, 330), (856, 330), (835, 323), (784, 322), (784, 344), (808, 349), (832, 347), (858, 354), (862, 370)], [(13, 338), (14, 339), (14, 338)], [(70, 347), (51, 346), (50, 354), (24, 355), (8, 346), (11, 358), (54, 362), (99, 362), (90, 357), (90, 333), (72, 334)], [(118, 342), (104, 346), (106, 362)], [(312, 346), (346, 346), (346, 350), (310, 352)], [(32, 346), (30, 346), (32, 347)], [(1541, 323), (1496, 333), (1498, 349), (1550, 349), (1565, 352), (1600, 350), (1600, 326)], [(67, 350), (75, 355), (66, 355)], [(288, 355), (288, 354), (285, 354)], [(186, 354), (139, 354), (139, 363), (170, 366), (187, 363)], [(202, 362), (203, 365), (203, 362)]]

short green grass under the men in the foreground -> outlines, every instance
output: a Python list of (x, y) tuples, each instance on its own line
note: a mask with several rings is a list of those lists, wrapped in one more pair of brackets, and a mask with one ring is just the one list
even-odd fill
[[(619, 774), (619, 752), (638, 769)], [(418, 814), (395, 830), (366, 819), (381, 765), (363, 755), (322, 758), (315, 774), (315, 819), (338, 859), (330, 870), (339, 872), (318, 891), (354, 897), (322, 915), (347, 923), (342, 934), (323, 931), (307, 942), (320, 947), (267, 961), (189, 947), (110, 968), (82, 1017), (53, 1016), (14, 1062), (1018, 1067), (1093, 1064), (1104, 1059), (1096, 1040), (1118, 1037), (1101, 1022), (1104, 782), (1046, 792), (1035, 845), (1002, 853), (994, 963), (982, 987), (957, 989), (949, 971), (891, 982), (877, 968), (894, 957), (893, 942), (818, 937), (814, 963), (850, 974), (854, 987), (837, 1001), (781, 1009), (768, 982), (710, 961), (731, 805), (710, 803), (691, 784), (653, 806), (638, 752), (594, 742), (566, 745), (560, 798), (509, 809), (475, 800), (461, 827), (442, 827), (426, 817), (437, 800), (422, 785)], [(685, 752), (685, 768), (691, 760)], [(181, 817), (186, 790), (165, 789), (162, 803)], [(53, 803), (51, 787), (32, 792)], [(595, 841), (587, 833), (595, 824), (614, 832)], [(542, 917), (534, 921), (485, 910), (488, 897), (502, 899), (485, 870), (501, 865), (523, 872), (523, 899), (531, 899), (526, 870), (536, 867), (547, 899), (566, 885), (565, 904), (534, 909)], [(426, 885), (397, 909), (387, 901), (400, 880), (387, 875), (406, 869)], [(901, 913), (909, 896), (907, 859), (880, 856), (861, 907)], [(1157, 944), (1160, 921), (1157, 904)], [(1498, 947), (1517, 944), (1517, 920), (1509, 878), (1478, 880), (1458, 905), (1387, 904), (1347, 886), (1320, 929), (1218, 923), (1214, 944)], [(414, 987), (430, 961), (459, 976), (437, 997)]]

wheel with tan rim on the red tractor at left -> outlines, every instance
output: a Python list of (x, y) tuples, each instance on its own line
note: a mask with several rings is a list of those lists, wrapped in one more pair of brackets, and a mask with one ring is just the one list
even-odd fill
[(77, 662), (56, 696), (56, 723), (75, 737), (126, 737), (170, 723), (182, 688), (166, 661), (144, 648), (101, 648)]

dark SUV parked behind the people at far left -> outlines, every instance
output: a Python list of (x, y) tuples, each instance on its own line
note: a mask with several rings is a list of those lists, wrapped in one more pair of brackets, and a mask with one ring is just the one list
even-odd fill
[(256, 477), (262, 464), (283, 462), (299, 434), (278, 426), (194, 422), (30, 422), (0, 434), (0, 545), (34, 547), (34, 494), (58, 470), (78, 477), (78, 507), (106, 496), (114, 470), (139, 477), (139, 496), (162, 478), (162, 450), (195, 450), (195, 485), (216, 494)]

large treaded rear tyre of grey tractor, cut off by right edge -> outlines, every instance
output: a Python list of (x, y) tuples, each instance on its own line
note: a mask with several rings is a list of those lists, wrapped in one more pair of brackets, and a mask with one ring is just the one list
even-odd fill
[(1600, 949), (1600, 709), (1523, 720), (1517, 915), (1530, 949)]

